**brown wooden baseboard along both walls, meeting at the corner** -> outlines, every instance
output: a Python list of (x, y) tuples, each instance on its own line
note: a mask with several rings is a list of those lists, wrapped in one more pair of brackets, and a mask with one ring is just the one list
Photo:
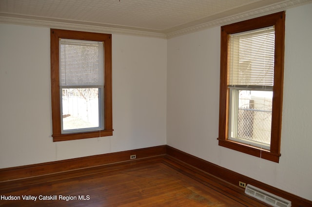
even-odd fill
[[(136, 154), (137, 159), (130, 160), (130, 155), (132, 154)], [(146, 163), (148, 162), (148, 160), (153, 162), (153, 160), (155, 159), (159, 161), (158, 158), (163, 159), (164, 162), (170, 162), (171, 165), (177, 163), (178, 165), (182, 166), (184, 165), (186, 168), (189, 169), (193, 168), (191, 171), (194, 171), (194, 175), (190, 176), (193, 176), (194, 178), (198, 177), (199, 179), (200, 175), (199, 171), (196, 172), (196, 170), (194, 170), (198, 169), (201, 170), (203, 173), (208, 173), (209, 175), (207, 176), (212, 179), (215, 177), (216, 180), (219, 179), (226, 181), (229, 183), (229, 185), (232, 184), (235, 187), (238, 186), (238, 181), (242, 181), (246, 184), (251, 184), (255, 187), (271, 192), (275, 195), (278, 195), (282, 198), (292, 201), (292, 207), (312, 207), (312, 201), (293, 195), (281, 189), (274, 188), (272, 186), (261, 183), (252, 178), (234, 172), (232, 170), (222, 168), (213, 163), (210, 163), (208, 161), (195, 157), (191, 154), (179, 151), (173, 147), (166, 145), (0, 169), (0, 185), (1, 183), (4, 184), (7, 181), (26, 178), (36, 179), (36, 177), (51, 175), (54, 173), (68, 174), (71, 171), (77, 169), (96, 170), (97, 168), (102, 169), (102, 167), (105, 167), (106, 165), (111, 166), (112, 164), (118, 163), (119, 164), (121, 163), (131, 164), (134, 162)], [(204, 182), (204, 177), (200, 179)], [(238, 190), (236, 191), (240, 192), (241, 194), (244, 194), (243, 188), (238, 188)]]

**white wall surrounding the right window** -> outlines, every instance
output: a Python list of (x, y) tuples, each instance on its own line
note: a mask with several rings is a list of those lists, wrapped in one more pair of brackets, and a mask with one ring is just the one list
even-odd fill
[(218, 146), (220, 27), (168, 40), (167, 144), (312, 200), (311, 11), (286, 11), (279, 163)]

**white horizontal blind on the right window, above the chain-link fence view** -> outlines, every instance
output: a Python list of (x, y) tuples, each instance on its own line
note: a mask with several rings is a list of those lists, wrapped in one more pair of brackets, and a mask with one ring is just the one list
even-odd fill
[(273, 88), (274, 39), (273, 26), (230, 35), (228, 87)]

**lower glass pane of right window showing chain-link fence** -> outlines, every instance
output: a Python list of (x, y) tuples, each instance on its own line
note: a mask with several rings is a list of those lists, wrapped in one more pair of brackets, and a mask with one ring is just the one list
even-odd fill
[(272, 91), (239, 90), (237, 138), (270, 145), (272, 97)]

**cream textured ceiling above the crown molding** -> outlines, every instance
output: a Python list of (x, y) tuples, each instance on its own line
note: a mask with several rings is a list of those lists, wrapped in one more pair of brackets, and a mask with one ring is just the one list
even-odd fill
[(0, 17), (168, 34), (287, 1), (0, 0)]

